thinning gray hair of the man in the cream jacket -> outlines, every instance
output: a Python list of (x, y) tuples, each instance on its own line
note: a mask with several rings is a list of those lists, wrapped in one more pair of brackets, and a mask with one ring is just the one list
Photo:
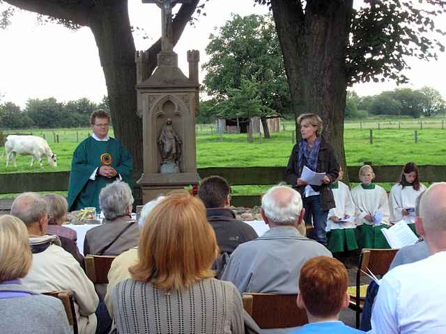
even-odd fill
[(37, 193), (22, 193), (15, 198), (10, 214), (20, 218), (29, 228), (48, 214), (47, 202)]

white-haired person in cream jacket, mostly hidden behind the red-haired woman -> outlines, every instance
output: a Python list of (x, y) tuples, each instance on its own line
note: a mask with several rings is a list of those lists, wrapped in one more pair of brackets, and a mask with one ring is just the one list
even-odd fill
[[(139, 230), (142, 230), (144, 223), (148, 214), (151, 213), (152, 209), (164, 199), (164, 196), (160, 196), (155, 200), (147, 202), (146, 205), (141, 209), (141, 216), (139, 217), (138, 225)], [(129, 267), (136, 264), (138, 260), (138, 247), (130, 248), (126, 252), (122, 253), (112, 262), (112, 267), (110, 267), (109, 273), (107, 275), (109, 279), (109, 284), (107, 285), (107, 294), (105, 295), (105, 305), (109, 311), (110, 317), (113, 319), (113, 302), (112, 302), (112, 289), (119, 282), (130, 278), (130, 273), (128, 272)]]

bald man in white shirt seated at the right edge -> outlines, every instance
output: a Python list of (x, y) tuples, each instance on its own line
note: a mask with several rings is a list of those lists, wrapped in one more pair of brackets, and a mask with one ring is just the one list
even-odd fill
[(380, 281), (370, 333), (446, 333), (446, 182), (424, 192), (415, 224), (431, 255), (392, 269)]

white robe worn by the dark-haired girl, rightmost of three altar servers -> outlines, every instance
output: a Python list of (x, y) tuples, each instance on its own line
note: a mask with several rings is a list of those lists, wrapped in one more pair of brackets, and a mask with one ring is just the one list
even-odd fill
[(410, 216), (403, 216), (403, 209), (415, 208), (415, 201), (420, 193), (426, 190), (424, 184), (420, 184), (420, 189), (417, 191), (413, 189), (413, 186), (401, 186), (397, 183), (392, 186), (389, 196), (390, 207), (390, 222), (398, 223), (401, 219), (404, 219), (406, 223), (415, 223), (415, 213)]

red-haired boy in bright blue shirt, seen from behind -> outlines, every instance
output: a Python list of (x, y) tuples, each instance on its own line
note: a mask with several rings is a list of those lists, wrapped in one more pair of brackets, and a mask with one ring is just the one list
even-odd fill
[(360, 334), (339, 321), (339, 312), (348, 307), (348, 274), (339, 260), (318, 256), (300, 269), (298, 307), (307, 311), (309, 324), (295, 334)]

